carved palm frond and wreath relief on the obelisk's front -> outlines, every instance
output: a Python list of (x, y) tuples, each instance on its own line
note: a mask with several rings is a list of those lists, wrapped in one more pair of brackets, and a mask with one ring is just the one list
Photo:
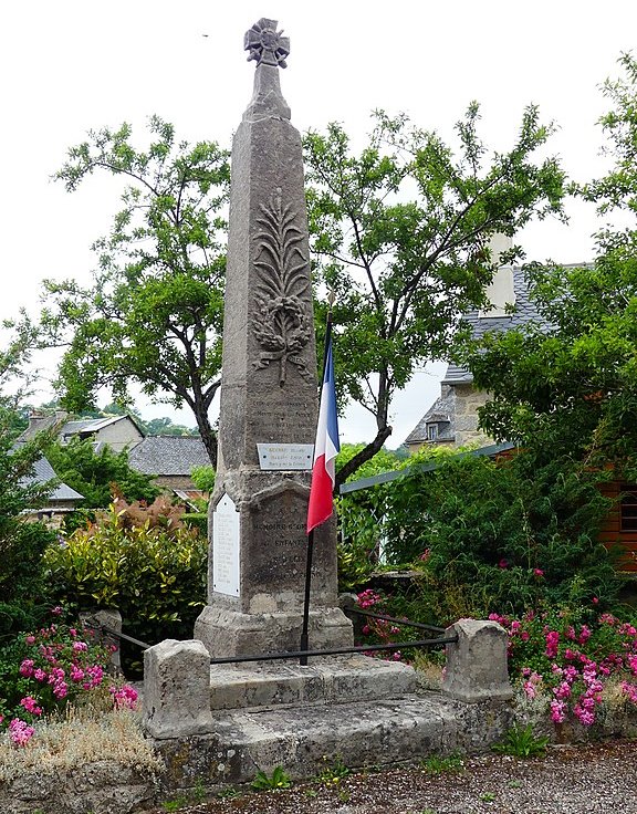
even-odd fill
[(257, 284), (253, 332), (263, 348), (255, 368), (279, 363), (279, 384), (283, 386), (288, 364), (310, 380), (307, 365), (299, 355), (312, 336), (310, 314), (309, 259), (302, 251), (303, 231), (296, 226), (297, 212), (283, 205), (276, 189), (268, 205), (261, 205), (257, 222), (258, 251), (254, 265), (260, 270)]

